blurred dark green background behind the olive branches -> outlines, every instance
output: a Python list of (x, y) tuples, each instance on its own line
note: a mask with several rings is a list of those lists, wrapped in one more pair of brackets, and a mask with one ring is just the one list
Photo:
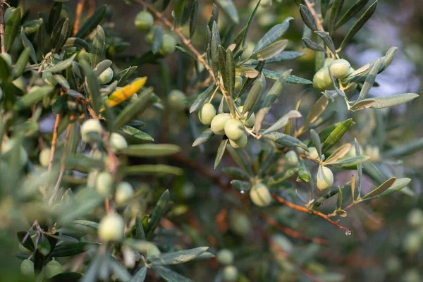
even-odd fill
[[(48, 13), (51, 8), (51, 1), (47, 0), (21, 2), (25, 9), (29, 10), (28, 18), (36, 18), (39, 11)], [(66, 3), (71, 18), (76, 2)], [(140, 6), (127, 5), (118, 0), (89, 2), (95, 6), (107, 4), (107, 22), (104, 24), (104, 29), (130, 44), (128, 49), (116, 56), (113, 50), (107, 50), (108, 57), (113, 59), (119, 68), (139, 65), (139, 76), (148, 76), (148, 85), (154, 86), (155, 92), (162, 99), (166, 99), (171, 89), (187, 92), (188, 85), (181, 77), (185, 75), (183, 69), (188, 63), (183, 54), (177, 51), (173, 56), (166, 57), (161, 64), (145, 62), (145, 58), (141, 56), (151, 47), (145, 42), (146, 32), (140, 32), (133, 24), (136, 14), (141, 10)], [(234, 2), (240, 13), (240, 22), (245, 23), (256, 4), (255, 1)], [(346, 0), (345, 3), (351, 4), (353, 1)], [(200, 5), (198, 30), (206, 26), (212, 1), (200, 1)], [(167, 9), (165, 13), (168, 18), (171, 18), (170, 11), (171, 9)], [(391, 66), (376, 79), (380, 86), (374, 87), (370, 94), (387, 96), (403, 92), (421, 93), (423, 81), (421, 11), (423, 2), (419, 0), (379, 0), (374, 16), (355, 36), (352, 44), (342, 51), (341, 55), (357, 68), (383, 56), (389, 47), (398, 47)], [(85, 13), (90, 13), (89, 9)], [(283, 72), (292, 68), (295, 75), (312, 80), (315, 73), (314, 51), (303, 47), (301, 37), (304, 23), (295, 1), (262, 1), (248, 39), (257, 42), (269, 27), (280, 23), (288, 16), (293, 16), (295, 20), (285, 35), (290, 39), (287, 49), (303, 51), (305, 55), (298, 60), (275, 63), (271, 69)], [(228, 26), (228, 20), (224, 16), (221, 17), (219, 27), (225, 30)], [(348, 25), (343, 28), (348, 30)], [(339, 37), (338, 34), (333, 37), (336, 42), (342, 39), (341, 36), (345, 34), (343, 32), (345, 30), (339, 32)], [(198, 31), (192, 38), (192, 44), (202, 47), (204, 37), (200, 35), (204, 34), (205, 29)], [(160, 73), (167, 72), (170, 75), (168, 81), (164, 81), (164, 76)], [(272, 108), (269, 120), (273, 118), (276, 121), (278, 116), (293, 109), (300, 97), (301, 106), (309, 108), (320, 94), (312, 86), (289, 85), (281, 97), (277, 106)], [(337, 121), (346, 119), (345, 106), (336, 103), (331, 106), (337, 110), (335, 118)], [(378, 128), (374, 110), (359, 111), (353, 114), (357, 124), (350, 134), (352, 137), (357, 137), (366, 152), (372, 152), (380, 142), (384, 142), (381, 140), (386, 140), (382, 147), (393, 148), (423, 138), (420, 122), (423, 118), (421, 106), (423, 100), (416, 99), (412, 104), (388, 109), (389, 113), (383, 114), (388, 118), (386, 132)], [(308, 238), (325, 238), (329, 241), (327, 245), (318, 245), (276, 231), (266, 224), (257, 207), (252, 206), (248, 195), (240, 194), (233, 187), (222, 189), (229, 178), (221, 168), (234, 165), (233, 160), (230, 156), (225, 156), (223, 165), (216, 171), (210, 171), (219, 141), (208, 142), (201, 154), (197, 147), (192, 148), (195, 136), (190, 130), (188, 113), (166, 111), (163, 114), (161, 110), (152, 108), (145, 112), (143, 121), (146, 121), (145, 131), (152, 135), (154, 140), (180, 145), (185, 156), (188, 156), (183, 160), (177, 156), (169, 161), (170, 164), (184, 168), (183, 176), (141, 179), (145, 185), (154, 188), (149, 195), (152, 199), (157, 199), (167, 188), (171, 192), (174, 206), (168, 214), (168, 219), (171, 221), (169, 224), (176, 226), (177, 230), (188, 233), (189, 236), (184, 236), (181, 239), (183, 242), (169, 242), (170, 245), (178, 243), (189, 243), (194, 246), (209, 245), (212, 252), (226, 247), (234, 252), (234, 265), (239, 271), (245, 276), (254, 273), (257, 281), (271, 281), (275, 277), (278, 277), (276, 281), (423, 280), (423, 218), (419, 218), (422, 215), (416, 212), (417, 209), (421, 211), (423, 207), (423, 151), (401, 157), (400, 161), (391, 162), (384, 159), (386, 166), (393, 168), (393, 171), (412, 176), (410, 188), (415, 192), (415, 196), (396, 193), (391, 197), (383, 197), (350, 209), (348, 217), (342, 219), (343, 226), (352, 229), (350, 236), (345, 236), (343, 231), (315, 216), (300, 214), (283, 206), (274, 207), (274, 216), (283, 221), (285, 226), (307, 235)], [(48, 128), (51, 124), (46, 121), (45, 126)], [(251, 142), (250, 148), (254, 148), (255, 142), (257, 141)], [(374, 158), (375, 161), (379, 158), (377, 152), (374, 152)], [(206, 178), (204, 173), (200, 173), (201, 170), (212, 175)], [(349, 177), (349, 172), (338, 173), (336, 181), (342, 184)], [(366, 178), (362, 189), (369, 191), (374, 184), (371, 179)], [(296, 197), (295, 194), (291, 196)], [(333, 203), (327, 205), (331, 206)], [(11, 254), (18, 252), (15, 234), (16, 231), (29, 228), (21, 224), (23, 221), (16, 220), (17, 214), (14, 211), (15, 209), (8, 203), (8, 198), (1, 197), (1, 281), (15, 280), (14, 274), (20, 265), (19, 259), (11, 258)], [(331, 209), (326, 212), (331, 212)], [(15, 222), (20, 223), (14, 224)], [(247, 229), (246, 232), (244, 228)], [(416, 235), (417, 233), (420, 235)], [(266, 241), (270, 244), (267, 245)], [(263, 246), (268, 248), (263, 249)], [(65, 265), (66, 263), (71, 261), (64, 262)], [(281, 266), (282, 273), (278, 272)], [(194, 281), (212, 281), (212, 277), (219, 270), (219, 265), (214, 260), (195, 264), (195, 267), (190, 264), (180, 267), (180, 273), (190, 274)]]

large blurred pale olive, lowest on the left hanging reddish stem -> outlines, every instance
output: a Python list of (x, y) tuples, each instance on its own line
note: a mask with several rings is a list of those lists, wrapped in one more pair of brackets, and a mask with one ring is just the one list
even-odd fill
[(118, 214), (108, 214), (99, 223), (97, 233), (102, 242), (121, 241), (125, 231), (125, 222)]

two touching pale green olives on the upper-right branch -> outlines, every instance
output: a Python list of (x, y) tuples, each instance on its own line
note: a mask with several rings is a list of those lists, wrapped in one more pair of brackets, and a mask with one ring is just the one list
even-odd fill
[[(333, 60), (331, 58), (327, 58), (324, 61), (323, 68), (319, 69), (317, 73), (314, 75), (313, 84), (318, 90), (328, 90), (332, 87), (333, 82), (331, 80), (331, 75), (329, 75), (329, 69), (331, 70), (333, 79), (343, 79), (348, 76), (350, 73), (353, 73), (354, 69), (351, 68), (350, 63), (344, 59), (336, 59)], [(345, 92), (351, 92), (357, 88), (357, 84), (354, 85), (343, 85)], [(346, 88), (345, 88), (346, 87)]]

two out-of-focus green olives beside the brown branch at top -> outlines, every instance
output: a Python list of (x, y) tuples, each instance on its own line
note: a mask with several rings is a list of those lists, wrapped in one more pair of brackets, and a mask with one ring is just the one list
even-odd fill
[[(135, 17), (135, 26), (139, 30), (148, 30), (148, 33), (145, 37), (145, 41), (148, 44), (153, 44), (154, 41), (154, 32), (157, 29), (157, 26), (154, 25), (154, 18), (149, 11), (142, 11), (137, 14)], [(172, 35), (164, 34), (161, 38), (161, 45), (159, 53), (162, 56), (167, 56), (172, 54), (175, 51), (176, 40)]]

